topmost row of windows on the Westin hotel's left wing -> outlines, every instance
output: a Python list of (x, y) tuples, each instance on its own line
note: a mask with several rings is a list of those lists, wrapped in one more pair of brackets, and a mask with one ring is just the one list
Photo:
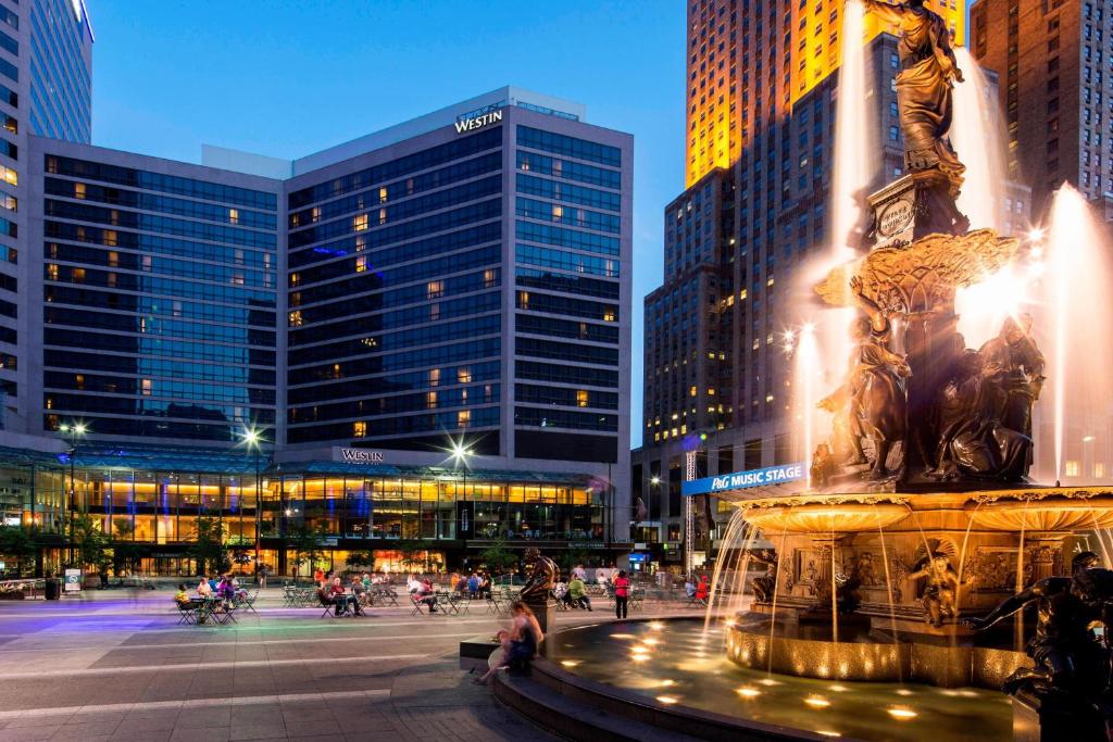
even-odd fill
[(141, 188), (142, 190), (158, 190), (221, 204), (238, 204), (239, 206), (249, 206), (268, 211), (275, 211), (278, 208), (278, 196), (267, 191), (224, 186), (206, 180), (195, 180), (193, 178), (183, 178), (161, 172), (135, 170), (104, 162), (90, 162), (88, 160), (58, 155), (46, 155), (45, 158), (46, 169), (50, 175), (114, 182), (119, 186)]

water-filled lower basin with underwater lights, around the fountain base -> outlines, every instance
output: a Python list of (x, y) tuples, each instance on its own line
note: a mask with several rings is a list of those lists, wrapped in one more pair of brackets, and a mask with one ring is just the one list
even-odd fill
[[(702, 619), (568, 627), (545, 640), (534, 675), (544, 683), (571, 675), (575, 687), (563, 683), (560, 692), (593, 711), (623, 714), (604, 705), (620, 703), (639, 720), (652, 714), (660, 729), (701, 739), (1012, 739), (1012, 702), (999, 691), (929, 687), (907, 677), (859, 683), (768, 673), (731, 662), (725, 644), (722, 629), (705, 632)], [(632, 653), (646, 659), (632, 661)], [(713, 716), (716, 729), (703, 716)]]

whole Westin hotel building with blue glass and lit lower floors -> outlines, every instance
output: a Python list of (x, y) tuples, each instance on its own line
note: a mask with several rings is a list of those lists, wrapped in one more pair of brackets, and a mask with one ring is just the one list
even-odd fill
[(288, 574), (306, 531), (329, 567), (403, 568), (413, 544), (450, 567), (496, 543), (620, 558), (632, 139), (584, 118), (503, 88), (203, 165), (30, 137), (38, 409), (0, 431), (0, 506), (39, 568), (75, 514), (154, 574), (191, 573), (213, 521), (243, 572), (258, 548)]

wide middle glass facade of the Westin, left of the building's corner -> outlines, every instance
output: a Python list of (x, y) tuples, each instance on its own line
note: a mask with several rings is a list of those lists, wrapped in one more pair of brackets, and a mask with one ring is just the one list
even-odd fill
[(287, 439), (498, 455), (502, 127), (383, 159), (289, 192)]

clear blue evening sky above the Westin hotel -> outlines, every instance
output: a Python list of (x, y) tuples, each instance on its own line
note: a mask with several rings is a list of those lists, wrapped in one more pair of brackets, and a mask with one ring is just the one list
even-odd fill
[[(684, 3), (676, 0), (89, 0), (93, 144), (190, 162), (203, 142), (293, 158), (504, 85), (634, 135), (631, 433), (642, 297), (683, 189)], [(623, 266), (626, 269), (626, 266)]]

